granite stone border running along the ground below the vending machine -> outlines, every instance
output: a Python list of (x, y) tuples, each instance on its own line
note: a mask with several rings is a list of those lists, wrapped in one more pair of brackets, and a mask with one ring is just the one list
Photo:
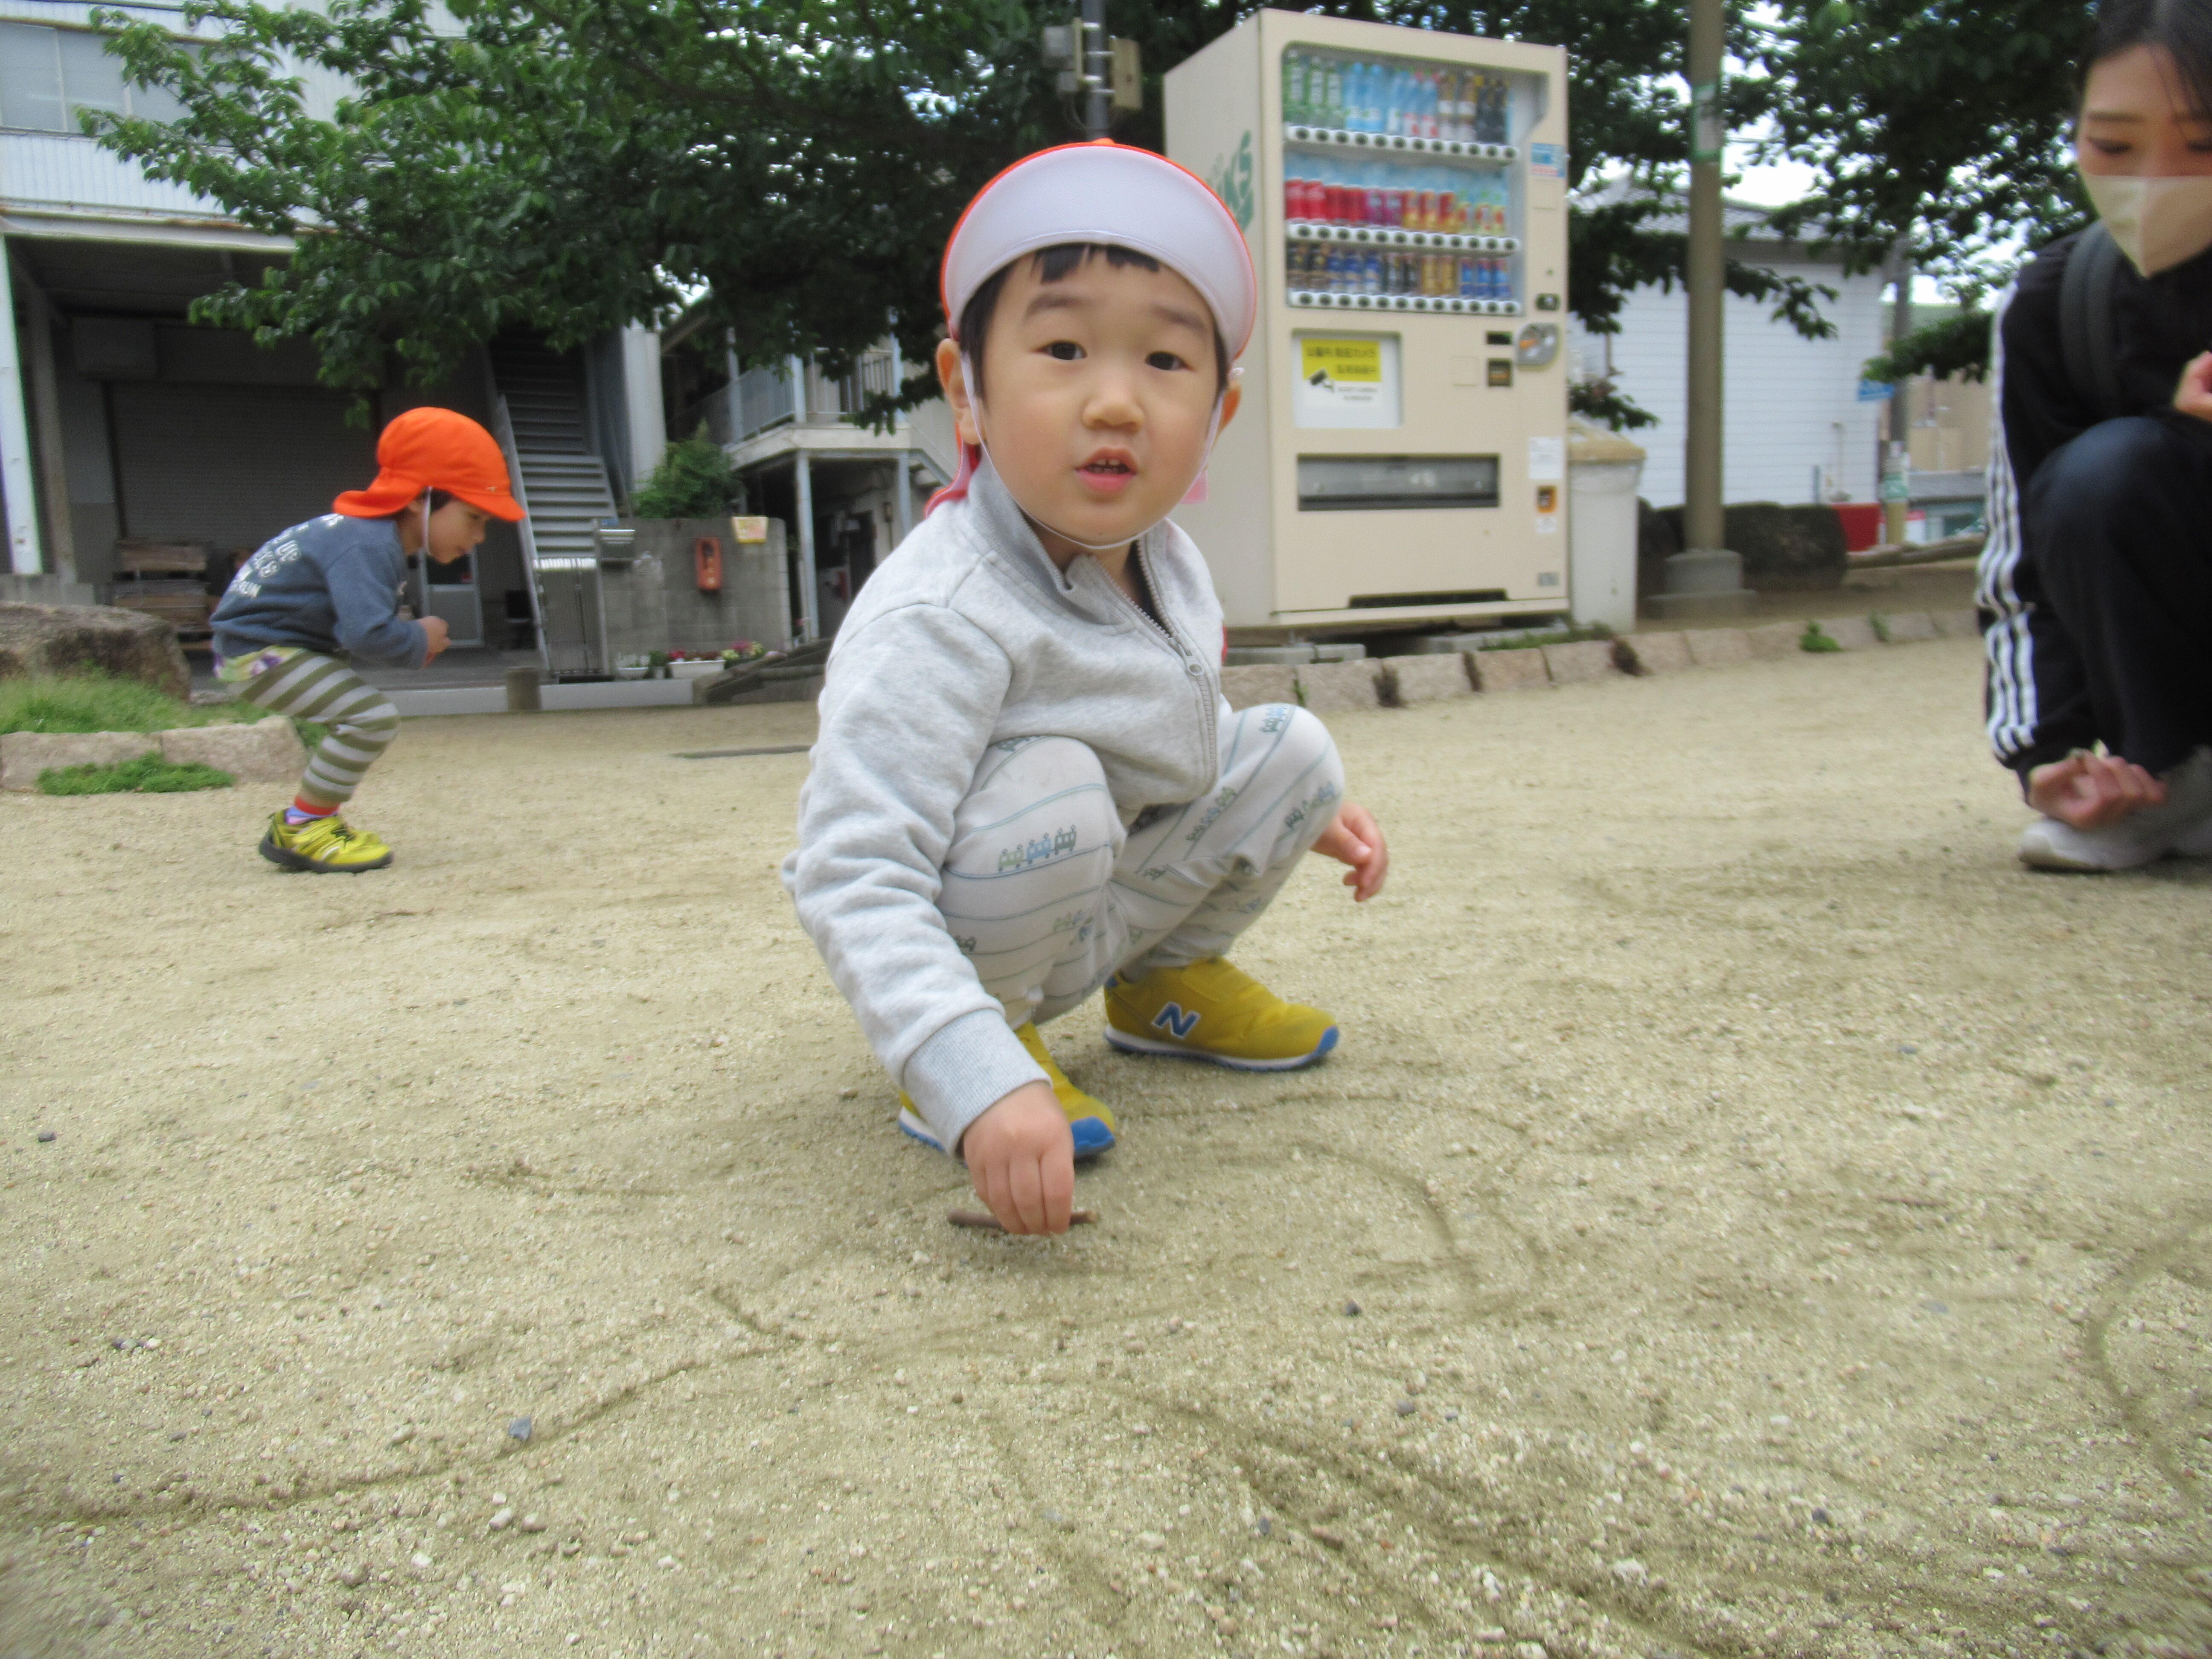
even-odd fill
[(1756, 628), (1683, 628), (1577, 639), (1555, 646), (1429, 653), (1367, 661), (1261, 664), (1223, 668), (1221, 692), (1230, 708), (1305, 703), (1316, 714), (1352, 708), (1416, 708), (1453, 697), (1590, 684), (1613, 675), (1679, 675), (1739, 661), (1776, 661), (1818, 655), (1805, 650), (1805, 630), (1818, 626), (1838, 650), (1885, 650), (1920, 639), (1964, 639), (1980, 633), (1973, 611), (1905, 611), (1865, 617), (1809, 617), (1765, 622)]

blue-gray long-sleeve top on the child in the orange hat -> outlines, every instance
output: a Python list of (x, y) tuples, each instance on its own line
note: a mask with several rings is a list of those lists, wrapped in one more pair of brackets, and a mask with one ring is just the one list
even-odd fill
[(261, 544), (215, 606), (215, 650), (303, 646), (376, 668), (420, 668), (422, 624), (400, 617), (407, 553), (389, 518), (325, 513)]

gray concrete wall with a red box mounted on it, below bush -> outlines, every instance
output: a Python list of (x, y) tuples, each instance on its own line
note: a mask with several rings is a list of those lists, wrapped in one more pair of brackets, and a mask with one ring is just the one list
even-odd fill
[[(635, 518), (637, 560), (606, 573), (606, 628), (617, 655), (721, 650), (739, 639), (781, 646), (792, 637), (783, 520), (765, 542), (739, 542), (726, 518)], [(721, 542), (721, 591), (701, 593), (692, 544)]]

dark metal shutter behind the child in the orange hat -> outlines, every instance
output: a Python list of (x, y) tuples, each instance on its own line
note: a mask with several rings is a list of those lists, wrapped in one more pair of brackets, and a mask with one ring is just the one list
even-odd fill
[(343, 392), (115, 383), (124, 533), (261, 546), (376, 476), (376, 434)]

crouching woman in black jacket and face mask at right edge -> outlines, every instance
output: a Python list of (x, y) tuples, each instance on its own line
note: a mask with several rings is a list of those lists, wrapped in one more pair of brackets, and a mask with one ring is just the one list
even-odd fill
[(2212, 856), (2212, 0), (2106, 0), (2075, 155), (2126, 254), (2117, 403), (2068, 374), (2068, 237), (1997, 307), (1989, 739), (2044, 814), (2022, 860), (2130, 869)]

